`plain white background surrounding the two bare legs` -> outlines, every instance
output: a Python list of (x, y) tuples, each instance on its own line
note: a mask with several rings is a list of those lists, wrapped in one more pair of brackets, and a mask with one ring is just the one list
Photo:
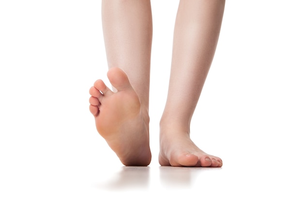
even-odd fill
[[(152, 0), (147, 197), (167, 190), (160, 185), (158, 123), (177, 7), (177, 0)], [(196, 144), (224, 166), (204, 171), (190, 194), (167, 196), (302, 200), (302, 19), (299, 0), (227, 0), (191, 127)], [(122, 164), (88, 109), (89, 88), (106, 80), (106, 66), (101, 0), (0, 1), (0, 200), (117, 195), (100, 184)]]

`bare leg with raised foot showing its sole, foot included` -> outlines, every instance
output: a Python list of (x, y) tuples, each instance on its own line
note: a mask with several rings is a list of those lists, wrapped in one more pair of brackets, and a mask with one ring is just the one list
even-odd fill
[(103, 0), (102, 23), (109, 67), (107, 77), (113, 91), (102, 80), (97, 80), (90, 90), (90, 110), (98, 132), (121, 162), (146, 166), (151, 161), (150, 1)]

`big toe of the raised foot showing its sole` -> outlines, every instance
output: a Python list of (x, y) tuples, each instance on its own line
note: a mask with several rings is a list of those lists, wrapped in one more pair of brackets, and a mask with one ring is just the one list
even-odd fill
[(107, 77), (112, 86), (118, 91), (123, 91), (132, 88), (127, 75), (120, 68), (110, 68), (107, 72)]

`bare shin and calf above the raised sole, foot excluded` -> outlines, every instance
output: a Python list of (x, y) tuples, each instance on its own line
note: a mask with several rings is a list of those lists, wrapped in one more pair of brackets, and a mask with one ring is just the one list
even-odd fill
[(150, 0), (102, 0), (102, 25), (108, 67), (129, 77), (142, 107), (149, 107), (152, 49)]

